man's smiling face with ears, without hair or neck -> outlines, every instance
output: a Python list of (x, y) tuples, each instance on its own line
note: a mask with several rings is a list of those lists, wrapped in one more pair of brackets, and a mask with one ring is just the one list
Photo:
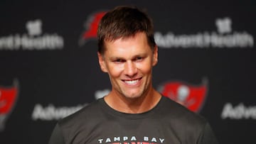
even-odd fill
[(152, 52), (145, 33), (105, 42), (105, 53), (98, 53), (100, 67), (107, 72), (113, 94), (129, 99), (145, 96), (150, 89), (157, 48)]

